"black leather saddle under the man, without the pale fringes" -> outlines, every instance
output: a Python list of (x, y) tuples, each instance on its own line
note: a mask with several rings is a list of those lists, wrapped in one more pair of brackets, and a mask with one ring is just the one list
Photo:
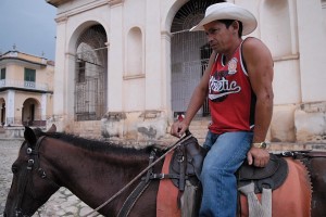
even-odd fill
[[(170, 177), (174, 186), (180, 191), (185, 189), (186, 180), (197, 186), (205, 155), (205, 149), (198, 144), (195, 137), (176, 149), (170, 164)], [(264, 168), (251, 166), (244, 161), (236, 175), (239, 188), (254, 182), (254, 192), (261, 193), (263, 188), (275, 190), (283, 184), (288, 175), (288, 165), (283, 157), (269, 154), (269, 162)]]

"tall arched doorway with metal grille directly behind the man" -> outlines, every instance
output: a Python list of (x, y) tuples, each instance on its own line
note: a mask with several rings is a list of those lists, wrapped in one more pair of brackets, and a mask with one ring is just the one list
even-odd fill
[[(203, 31), (189, 31), (204, 16), (205, 9), (221, 0), (190, 0), (176, 13), (172, 26), (172, 111), (186, 111), (195, 87), (208, 66), (211, 48)], [(198, 112), (209, 115), (208, 103)]]

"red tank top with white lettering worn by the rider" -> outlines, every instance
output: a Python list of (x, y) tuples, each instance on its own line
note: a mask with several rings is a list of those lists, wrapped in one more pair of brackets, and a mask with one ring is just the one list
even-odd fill
[(224, 64), (224, 55), (217, 54), (209, 81), (209, 103), (214, 133), (250, 131), (254, 124), (255, 95), (243, 65), (241, 44), (233, 58)]

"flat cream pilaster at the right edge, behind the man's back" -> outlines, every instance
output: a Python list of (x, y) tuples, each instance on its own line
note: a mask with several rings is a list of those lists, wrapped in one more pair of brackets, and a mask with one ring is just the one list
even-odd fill
[(321, 0), (298, 0), (297, 10), (302, 102), (326, 101), (326, 35)]

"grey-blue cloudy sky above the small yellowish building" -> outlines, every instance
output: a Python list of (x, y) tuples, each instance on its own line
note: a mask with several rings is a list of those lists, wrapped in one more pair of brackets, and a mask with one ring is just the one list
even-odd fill
[(0, 53), (16, 50), (55, 61), (57, 8), (46, 0), (0, 0)]

